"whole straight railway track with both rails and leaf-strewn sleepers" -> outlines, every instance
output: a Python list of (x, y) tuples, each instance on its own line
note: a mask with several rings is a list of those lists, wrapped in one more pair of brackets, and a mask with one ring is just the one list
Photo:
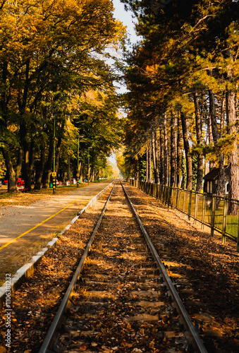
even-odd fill
[(39, 350), (44, 352), (207, 352), (118, 182)]

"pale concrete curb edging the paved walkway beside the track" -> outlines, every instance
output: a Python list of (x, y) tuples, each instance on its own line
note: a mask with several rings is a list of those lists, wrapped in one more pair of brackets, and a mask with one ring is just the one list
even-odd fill
[[(75, 216), (73, 220), (71, 220), (71, 222), (63, 229), (63, 231), (61, 232), (61, 235), (71, 228), (71, 226), (76, 222), (76, 220), (78, 220), (78, 218), (82, 215), (82, 213), (84, 213), (85, 210), (87, 210), (87, 208), (89, 208), (91, 205), (94, 205), (94, 203), (96, 203), (96, 201), (102, 196), (102, 193), (104, 193), (106, 189), (108, 189), (109, 186), (111, 186), (113, 182), (114, 181), (112, 181), (109, 185), (107, 185), (102, 191), (97, 193), (97, 195), (94, 196), (89, 201), (89, 203), (87, 203), (85, 208), (82, 208), (80, 213), (77, 216)], [(57, 241), (58, 241), (58, 238), (53, 238), (51, 241), (49, 241), (49, 243), (47, 244), (47, 247), (43, 248), (42, 251), (39, 251), (37, 255), (32, 256), (32, 261), (30, 263), (26, 263), (21, 268), (19, 268), (19, 270), (17, 270), (16, 274), (13, 275), (13, 277), (11, 277), (11, 293), (16, 292), (16, 290), (20, 287), (20, 285), (22, 285), (22, 283), (25, 282), (25, 280), (27, 280), (27, 278), (30, 277), (32, 273), (34, 273), (35, 268), (37, 267), (37, 264), (39, 263), (39, 261), (42, 260), (42, 256), (46, 255), (47, 251), (51, 248), (51, 246), (54, 246)], [(4, 285), (0, 287), (0, 309), (4, 305), (4, 301), (6, 297), (6, 286), (9, 286), (9, 284), (6, 284), (5, 282)]]

